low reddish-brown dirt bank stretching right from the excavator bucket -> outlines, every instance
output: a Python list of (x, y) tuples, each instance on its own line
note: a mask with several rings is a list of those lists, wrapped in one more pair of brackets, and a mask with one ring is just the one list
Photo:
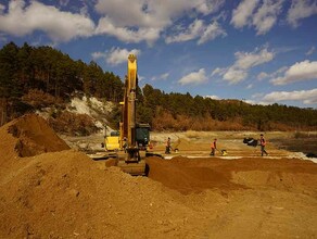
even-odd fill
[[(188, 194), (205, 189), (238, 190), (254, 187), (305, 190), (317, 198), (317, 164), (303, 160), (147, 159), (149, 177)], [(294, 183), (295, 181), (295, 183)]]

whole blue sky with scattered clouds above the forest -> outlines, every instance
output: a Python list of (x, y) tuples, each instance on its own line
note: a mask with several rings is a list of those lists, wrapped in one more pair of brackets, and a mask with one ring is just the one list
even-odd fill
[(317, 109), (317, 0), (0, 0), (0, 47), (52, 46), (140, 86)]

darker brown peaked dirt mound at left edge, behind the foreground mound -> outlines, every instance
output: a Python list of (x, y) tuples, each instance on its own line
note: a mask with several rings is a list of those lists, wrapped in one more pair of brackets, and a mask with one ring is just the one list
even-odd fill
[(16, 139), (14, 150), (22, 158), (69, 149), (47, 122), (36, 114), (24, 115), (3, 126), (0, 137), (8, 138), (8, 133)]

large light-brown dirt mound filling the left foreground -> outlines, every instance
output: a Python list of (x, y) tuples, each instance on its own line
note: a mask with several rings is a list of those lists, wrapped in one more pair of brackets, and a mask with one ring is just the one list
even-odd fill
[(147, 177), (73, 150), (24, 162), (0, 178), (0, 238), (194, 238), (203, 230), (195, 204)]

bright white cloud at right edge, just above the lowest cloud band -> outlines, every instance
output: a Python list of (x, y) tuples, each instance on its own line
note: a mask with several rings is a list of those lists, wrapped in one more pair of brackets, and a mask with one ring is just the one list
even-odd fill
[(294, 81), (302, 81), (308, 79), (317, 79), (317, 61), (296, 62), (290, 66), (283, 76), (270, 80), (272, 85), (287, 85)]

